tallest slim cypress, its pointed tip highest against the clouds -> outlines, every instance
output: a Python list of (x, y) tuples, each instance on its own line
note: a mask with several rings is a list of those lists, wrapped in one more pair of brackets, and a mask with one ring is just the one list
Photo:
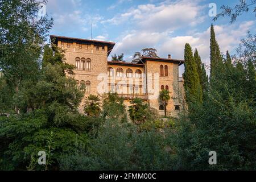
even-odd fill
[(210, 26), (210, 77), (214, 77), (218, 71), (218, 65), (222, 62), (220, 47), (215, 38), (213, 24)]

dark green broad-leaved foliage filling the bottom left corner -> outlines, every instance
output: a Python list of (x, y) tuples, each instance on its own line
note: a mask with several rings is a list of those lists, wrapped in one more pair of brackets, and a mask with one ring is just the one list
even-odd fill
[[(80, 147), (86, 147), (88, 137), (72, 129), (51, 126), (48, 115), (34, 111), (22, 117), (1, 118), (0, 140), (1, 169), (24, 169), (30, 163), (31, 156), (37, 156), (39, 151), (49, 151), (54, 148), (51, 156), (51, 169), (57, 168), (57, 160), (62, 154), (75, 152)], [(48, 135), (53, 132), (54, 143)], [(47, 142), (48, 140), (48, 142)], [(15, 151), (15, 152), (14, 152)], [(36, 169), (42, 169), (37, 166)]]

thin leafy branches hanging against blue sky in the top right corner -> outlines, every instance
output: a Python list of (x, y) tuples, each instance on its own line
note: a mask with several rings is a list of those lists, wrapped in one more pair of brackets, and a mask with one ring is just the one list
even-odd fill
[(237, 16), (242, 15), (243, 13), (247, 13), (250, 9), (250, 7), (253, 7), (253, 12), (256, 16), (256, 1), (255, 0), (251, 0), (249, 4), (247, 4), (246, 0), (240, 0), (240, 4), (237, 4), (234, 7), (230, 7), (230, 6), (225, 6), (222, 5), (221, 6), (221, 13), (217, 14), (213, 20), (217, 20), (220, 16), (230, 16), (230, 23), (234, 23), (237, 19)]

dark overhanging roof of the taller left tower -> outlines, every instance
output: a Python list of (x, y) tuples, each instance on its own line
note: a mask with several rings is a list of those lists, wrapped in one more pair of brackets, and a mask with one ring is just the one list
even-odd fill
[(90, 39), (79, 39), (79, 38), (70, 38), (67, 36), (58, 36), (58, 35), (50, 35), (51, 41), (54, 40), (53, 43), (57, 44), (58, 40), (74, 40), (76, 42), (81, 42), (81, 43), (93, 43), (93, 44), (101, 44), (101, 45), (106, 45), (108, 46), (108, 55), (112, 51), (112, 49), (115, 46), (114, 42), (105, 42), (105, 41), (100, 41), (100, 40), (90, 40)]

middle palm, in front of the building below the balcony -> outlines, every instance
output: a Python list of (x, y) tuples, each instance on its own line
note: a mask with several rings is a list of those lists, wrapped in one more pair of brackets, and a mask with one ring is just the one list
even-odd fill
[(129, 106), (128, 112), (131, 121), (133, 121), (136, 125), (139, 125), (145, 121), (147, 104), (144, 104), (141, 98), (134, 98), (134, 100), (130, 101), (130, 104), (131, 106)]

